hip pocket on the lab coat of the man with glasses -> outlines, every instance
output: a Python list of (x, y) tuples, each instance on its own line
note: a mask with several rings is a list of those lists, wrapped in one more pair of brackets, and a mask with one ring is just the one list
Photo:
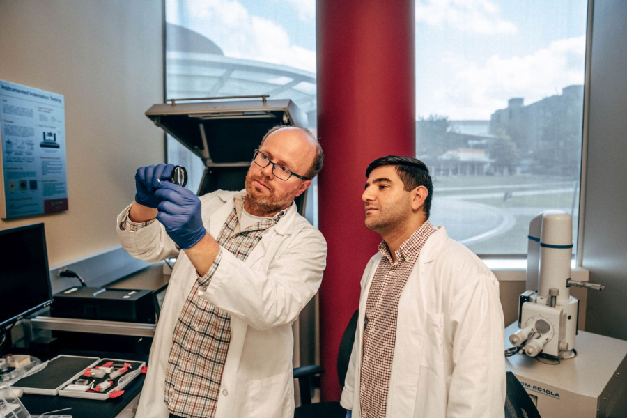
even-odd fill
[(248, 384), (250, 418), (291, 417), (294, 410), (293, 372), (251, 380)]

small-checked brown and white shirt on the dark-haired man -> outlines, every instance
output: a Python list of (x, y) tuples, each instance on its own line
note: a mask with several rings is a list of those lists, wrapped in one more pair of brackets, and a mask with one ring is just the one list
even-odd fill
[(384, 418), (392, 375), (398, 300), (426, 240), (435, 232), (431, 222), (422, 224), (396, 250), (396, 263), (387, 244), (381, 242), (383, 258), (377, 266), (368, 300), (364, 327), (364, 353), (359, 382), (363, 418)]

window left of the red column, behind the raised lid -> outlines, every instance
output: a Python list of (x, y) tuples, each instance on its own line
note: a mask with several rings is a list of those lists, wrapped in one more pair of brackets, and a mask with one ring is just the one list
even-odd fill
[[(316, 134), (315, 9), (314, 0), (166, 0), (167, 98), (290, 98)], [(198, 189), (201, 159), (169, 136), (167, 158)], [(306, 206), (314, 224), (316, 185)]]

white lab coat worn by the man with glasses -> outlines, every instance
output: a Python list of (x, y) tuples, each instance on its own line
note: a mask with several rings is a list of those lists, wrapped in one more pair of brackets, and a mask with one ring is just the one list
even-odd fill
[[(237, 193), (219, 191), (201, 196), (203, 222), (213, 237), (219, 235), (233, 210)], [(196, 270), (160, 222), (137, 232), (121, 231), (119, 224), (125, 213), (118, 217), (118, 235), (129, 254), (145, 261), (178, 254), (137, 410), (138, 418), (167, 418), (164, 382), (172, 335), (196, 281)], [(216, 418), (293, 417), (291, 325), (318, 291), (325, 259), (322, 234), (298, 215), (295, 204), (263, 235), (245, 262), (222, 251), (210, 285), (199, 291), (201, 297), (231, 314), (231, 343)]]

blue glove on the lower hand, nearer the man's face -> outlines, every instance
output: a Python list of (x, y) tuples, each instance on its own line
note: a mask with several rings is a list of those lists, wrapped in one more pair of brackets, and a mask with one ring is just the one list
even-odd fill
[(198, 196), (185, 187), (162, 181), (155, 197), (162, 200), (157, 206), (157, 220), (165, 226), (170, 238), (180, 249), (194, 247), (207, 233)]

